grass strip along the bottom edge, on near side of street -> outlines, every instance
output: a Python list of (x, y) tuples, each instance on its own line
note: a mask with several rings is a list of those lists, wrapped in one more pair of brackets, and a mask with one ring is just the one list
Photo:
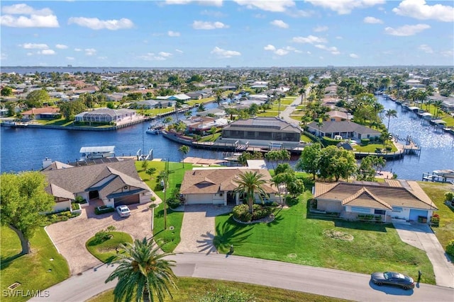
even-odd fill
[[(240, 291), (253, 294), (254, 301), (287, 301), (287, 302), (336, 302), (345, 301), (338, 298), (319, 296), (316, 294), (276, 289), (274, 287), (260, 286), (233, 281), (221, 281), (201, 278), (181, 277), (177, 280), (178, 290), (172, 291), (173, 299), (166, 297), (164, 301), (199, 301), (207, 292), (216, 292), (217, 289), (228, 291)], [(94, 296), (88, 302), (112, 302), (114, 301), (113, 289)], [(157, 301), (157, 299), (156, 299)]]

